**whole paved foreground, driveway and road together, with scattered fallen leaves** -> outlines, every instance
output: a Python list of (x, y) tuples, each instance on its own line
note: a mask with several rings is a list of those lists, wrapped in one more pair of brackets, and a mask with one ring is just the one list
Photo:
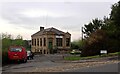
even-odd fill
[[(104, 60), (98, 62), (61, 62), (63, 55), (35, 55), (27, 63), (11, 63), (3, 66), (3, 72), (118, 72), (118, 64)], [(93, 60), (92, 60), (93, 61)], [(93, 65), (101, 64), (94, 67)], [(87, 68), (87, 66), (92, 66)]]

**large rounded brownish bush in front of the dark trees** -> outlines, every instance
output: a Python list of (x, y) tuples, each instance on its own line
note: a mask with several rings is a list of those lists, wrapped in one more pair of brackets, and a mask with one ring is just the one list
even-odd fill
[(82, 56), (99, 55), (100, 50), (106, 50), (107, 36), (104, 30), (96, 30), (86, 39)]

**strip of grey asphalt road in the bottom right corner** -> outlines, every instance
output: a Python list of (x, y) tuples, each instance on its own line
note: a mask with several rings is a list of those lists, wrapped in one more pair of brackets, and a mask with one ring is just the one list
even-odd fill
[(72, 69), (68, 70), (67, 72), (118, 72), (118, 69), (118, 64), (115, 63), (83, 69)]

